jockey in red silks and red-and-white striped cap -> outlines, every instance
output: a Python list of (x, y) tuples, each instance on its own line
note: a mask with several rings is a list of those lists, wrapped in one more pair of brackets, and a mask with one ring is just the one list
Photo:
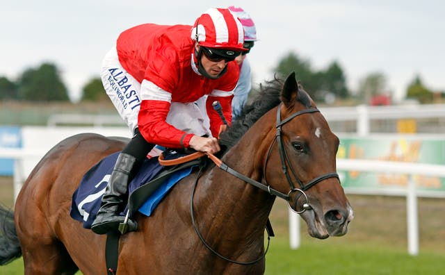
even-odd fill
[[(226, 8), (207, 10), (193, 26), (143, 24), (119, 35), (104, 58), (101, 78), (133, 138), (118, 156), (92, 231), (104, 234), (124, 222), (118, 213), (129, 180), (154, 144), (209, 153), (220, 150), (213, 137), (224, 124), (211, 104), (220, 101), (231, 122), (239, 77), (234, 60), (248, 51), (243, 38), (241, 22)], [(207, 94), (209, 128), (194, 103)], [(127, 225), (129, 231), (137, 228), (131, 219)]]

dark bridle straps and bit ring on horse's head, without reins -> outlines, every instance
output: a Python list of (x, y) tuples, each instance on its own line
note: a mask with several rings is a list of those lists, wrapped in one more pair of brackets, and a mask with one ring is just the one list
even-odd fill
[[(310, 108), (310, 109), (306, 109), (306, 110), (300, 110), (296, 113), (293, 113), (290, 117), (287, 117), (284, 120), (281, 120), (281, 108), (282, 108), (282, 103), (280, 103), (280, 105), (278, 106), (278, 110), (277, 110), (277, 125), (275, 126), (277, 128), (277, 133), (275, 135), (275, 139), (273, 140), (272, 144), (270, 144), (268, 153), (267, 153), (267, 157), (266, 160), (264, 162), (263, 165), (263, 176), (264, 176), (264, 181), (266, 182), (266, 164), (267, 164), (267, 160), (270, 156), (270, 152), (272, 150), (273, 144), (275, 142), (277, 142), (278, 144), (278, 151), (280, 152), (280, 160), (281, 160), (281, 167), (282, 167), (282, 171), (284, 173), (284, 176), (286, 176), (287, 182), (289, 183), (289, 187), (291, 188), (291, 190), (289, 190), (289, 192), (286, 194), (286, 201), (289, 201), (289, 207), (291, 208), (291, 210), (295, 213), (301, 214), (303, 212), (305, 212), (305, 210), (308, 210), (311, 208), (310, 204), (309, 204), (309, 198), (307, 197), (307, 194), (305, 193), (305, 191), (307, 191), (309, 188), (312, 188), (312, 186), (316, 185), (317, 183), (324, 181), (327, 178), (339, 178), (339, 175), (335, 172), (332, 173), (327, 173), (327, 174), (323, 174), (321, 176), (318, 176), (316, 178), (314, 178), (312, 181), (309, 181), (309, 183), (302, 183), (302, 181), (300, 181), (300, 178), (298, 178), (295, 170), (293, 169), (291, 162), (289, 160), (289, 157), (287, 156), (286, 153), (286, 148), (284, 147), (284, 142), (283, 142), (283, 138), (282, 138), (282, 126), (284, 124), (286, 124), (287, 122), (290, 122), (294, 117), (298, 117), (299, 115), (303, 115), (303, 114), (307, 114), (307, 113), (316, 113), (316, 112), (320, 112), (320, 110), (318, 110), (317, 108)], [(293, 175), (294, 178), (296, 178), (296, 181), (298, 182), (298, 185), (300, 185), (300, 188), (296, 188), (295, 185), (293, 184), (293, 181), (291, 179), (291, 176), (289, 175), (289, 172), (287, 170), (287, 167), (290, 167), (291, 173)], [(266, 182), (266, 185), (268, 185), (268, 183)], [(268, 185), (269, 186), (269, 185)], [(293, 207), (291, 206), (291, 193), (293, 192), (300, 192), (300, 195), (298, 195), (298, 197), (296, 197), (295, 202), (293, 204)], [(305, 203), (303, 203), (302, 205), (302, 210), (298, 211), (297, 209), (297, 201), (298, 198), (300, 196), (304, 196), (305, 197)]]

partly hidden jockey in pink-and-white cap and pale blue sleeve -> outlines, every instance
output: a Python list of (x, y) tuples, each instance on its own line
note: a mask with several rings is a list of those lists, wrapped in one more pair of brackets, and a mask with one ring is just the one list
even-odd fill
[(254, 42), (257, 41), (257, 28), (252, 20), (252, 17), (242, 8), (229, 6), (228, 8), (241, 22), (244, 28), (244, 48), (243, 51), (236, 57), (236, 62), (240, 68), (238, 83), (234, 90), (234, 99), (232, 99), (232, 119), (237, 119), (241, 115), (245, 101), (248, 100), (248, 94), (252, 89), (252, 76), (250, 73), (250, 63), (246, 58), (246, 54), (252, 49)]

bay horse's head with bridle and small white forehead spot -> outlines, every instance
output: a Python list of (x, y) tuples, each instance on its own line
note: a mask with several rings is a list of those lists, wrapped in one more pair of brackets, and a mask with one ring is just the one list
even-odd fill
[(339, 138), (294, 73), (284, 82), (281, 101), (264, 177), (281, 192), (290, 187), (289, 206), (305, 220), (309, 235), (321, 239), (344, 235), (353, 209), (336, 173)]

